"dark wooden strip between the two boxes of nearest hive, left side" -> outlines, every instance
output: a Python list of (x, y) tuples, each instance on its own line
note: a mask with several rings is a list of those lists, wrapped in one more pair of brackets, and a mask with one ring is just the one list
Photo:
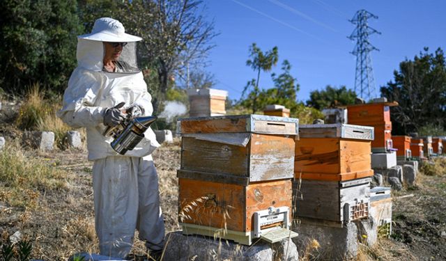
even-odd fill
[(192, 180), (203, 180), (209, 182), (235, 184), (240, 186), (247, 186), (249, 184), (249, 177), (240, 177), (225, 173), (204, 173), (199, 171), (185, 171), (185, 170), (178, 170), (176, 173), (177, 177), (187, 178)]

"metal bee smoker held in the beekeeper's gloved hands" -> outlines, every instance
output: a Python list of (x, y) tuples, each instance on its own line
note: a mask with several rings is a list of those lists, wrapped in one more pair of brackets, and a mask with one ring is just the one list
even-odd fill
[(156, 116), (131, 117), (116, 127), (107, 128), (104, 135), (112, 134), (114, 141), (110, 145), (116, 152), (124, 155), (125, 152), (133, 150), (138, 145), (144, 138), (144, 132), (156, 119)]

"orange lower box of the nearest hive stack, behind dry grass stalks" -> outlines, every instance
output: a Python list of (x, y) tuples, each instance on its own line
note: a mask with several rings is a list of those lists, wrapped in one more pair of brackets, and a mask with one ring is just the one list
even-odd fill
[[(268, 207), (288, 207), (291, 221), (291, 179), (247, 183), (213, 174), (199, 180), (178, 171), (178, 213), (183, 232), (231, 239), (251, 244), (254, 212)], [(225, 231), (223, 231), (226, 229)]]

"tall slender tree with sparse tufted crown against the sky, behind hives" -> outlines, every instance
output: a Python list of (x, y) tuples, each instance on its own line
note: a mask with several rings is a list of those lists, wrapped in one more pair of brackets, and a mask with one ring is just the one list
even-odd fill
[(272, 69), (272, 66), (277, 64), (277, 61), (279, 61), (279, 52), (277, 47), (273, 47), (271, 50), (263, 53), (254, 42), (249, 47), (249, 57), (250, 58), (246, 61), (246, 65), (251, 67), (254, 72), (257, 72), (257, 79), (252, 79), (251, 81), (247, 82), (247, 85), (243, 89), (242, 97), (250, 87), (253, 88), (252, 92), (248, 95), (248, 99), (252, 100), (252, 103), (249, 104), (249, 106), (252, 108), (252, 113), (256, 113), (257, 109), (259, 109), (257, 100), (260, 93), (260, 72), (269, 72)]

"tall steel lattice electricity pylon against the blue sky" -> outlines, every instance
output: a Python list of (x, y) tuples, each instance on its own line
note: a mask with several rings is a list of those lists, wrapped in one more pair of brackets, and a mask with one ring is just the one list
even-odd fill
[[(367, 22), (367, 19), (378, 17), (367, 10), (359, 10), (355, 13), (355, 16), (349, 22), (355, 24), (356, 28), (348, 37), (350, 40), (356, 40), (355, 49), (353, 49), (353, 54), (356, 56), (356, 73), (355, 73), (355, 93), (360, 90), (360, 97), (363, 99), (370, 100), (374, 95), (375, 82), (374, 74), (371, 68), (371, 58), (370, 52), (373, 50), (379, 51), (376, 47), (371, 45), (369, 42), (369, 35), (380, 32), (371, 28)], [(367, 97), (364, 97), (367, 95)]]

